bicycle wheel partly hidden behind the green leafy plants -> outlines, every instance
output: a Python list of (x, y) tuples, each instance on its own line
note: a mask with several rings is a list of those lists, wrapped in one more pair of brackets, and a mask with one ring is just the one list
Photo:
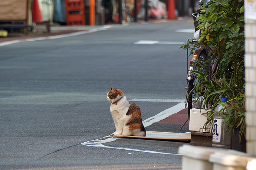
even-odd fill
[[(206, 55), (206, 52), (205, 51), (201, 51), (200, 55), (198, 56), (198, 60), (201, 62), (201, 63), (204, 63), (207, 61), (207, 55)], [(203, 74), (207, 74), (209, 72), (209, 67), (200, 67), (198, 65), (196, 65), (195, 71), (201, 71), (203, 72)], [(196, 101), (196, 94), (195, 94), (195, 91), (191, 92), (194, 88), (194, 86), (196, 85), (197, 83), (197, 74), (194, 74), (194, 77), (191, 81), (188, 82), (188, 96), (187, 96), (187, 103), (188, 103), (188, 115), (190, 115), (190, 109), (192, 108), (197, 108), (198, 106), (197, 105), (193, 105), (193, 103)]]

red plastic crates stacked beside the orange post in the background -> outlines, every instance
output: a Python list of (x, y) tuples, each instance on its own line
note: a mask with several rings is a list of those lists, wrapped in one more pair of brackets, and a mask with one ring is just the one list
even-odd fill
[(66, 16), (68, 26), (85, 25), (84, 0), (66, 0)]

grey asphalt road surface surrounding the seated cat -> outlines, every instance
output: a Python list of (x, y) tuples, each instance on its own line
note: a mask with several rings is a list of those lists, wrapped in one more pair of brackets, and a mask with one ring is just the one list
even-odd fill
[[(115, 131), (106, 93), (121, 89), (145, 120), (184, 99), (193, 23), (113, 25), (88, 34), (0, 47), (0, 169), (180, 169), (181, 142), (117, 139), (83, 146)], [(141, 40), (167, 44), (134, 44)], [(177, 42), (177, 44), (170, 44)], [(180, 125), (147, 130), (178, 132)], [(186, 126), (187, 128), (187, 126)]]

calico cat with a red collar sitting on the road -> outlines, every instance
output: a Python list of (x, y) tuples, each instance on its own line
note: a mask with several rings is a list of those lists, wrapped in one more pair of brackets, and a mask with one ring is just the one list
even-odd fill
[(113, 137), (116, 135), (146, 136), (140, 108), (128, 101), (121, 90), (111, 87), (106, 99), (111, 102), (110, 112), (115, 122), (116, 132)]

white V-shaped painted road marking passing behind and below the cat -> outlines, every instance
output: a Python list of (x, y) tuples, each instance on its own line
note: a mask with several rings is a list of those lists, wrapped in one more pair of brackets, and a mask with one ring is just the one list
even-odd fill
[[(158, 113), (157, 115), (152, 116), (151, 118), (144, 120), (142, 123), (143, 123), (144, 127), (150, 126), (153, 123), (159, 122), (160, 120), (163, 120), (163, 119), (167, 118), (168, 116), (173, 115), (174, 113), (177, 113), (178, 111), (184, 109), (184, 105), (185, 105), (185, 103), (183, 103), (183, 102), (178, 103), (177, 105), (175, 105), (171, 108), (168, 108), (168, 109)], [(111, 148), (111, 149), (131, 150), (131, 151), (146, 152), (146, 153), (181, 155), (181, 154), (176, 154), (176, 153), (164, 153), (164, 152), (155, 152), (155, 151), (151, 151), (151, 150), (132, 149), (132, 148), (125, 148), (125, 147), (111, 147), (111, 146), (103, 145), (103, 143), (113, 142), (116, 139), (118, 139), (118, 138), (111, 137), (112, 135), (114, 135), (114, 133), (112, 133), (108, 136), (99, 138), (99, 139), (83, 142), (81, 144), (84, 146), (105, 147), (105, 148)]]

